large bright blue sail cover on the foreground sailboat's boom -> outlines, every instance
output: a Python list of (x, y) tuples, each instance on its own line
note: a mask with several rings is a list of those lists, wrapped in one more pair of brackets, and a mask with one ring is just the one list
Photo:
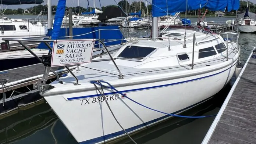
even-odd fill
[[(153, 17), (161, 17), (172, 12), (184, 12), (206, 8), (210, 11), (231, 11), (238, 10), (239, 0), (153, 0), (152, 15)], [(166, 3), (167, 2), (167, 3)], [(167, 10), (168, 6), (168, 10)]]

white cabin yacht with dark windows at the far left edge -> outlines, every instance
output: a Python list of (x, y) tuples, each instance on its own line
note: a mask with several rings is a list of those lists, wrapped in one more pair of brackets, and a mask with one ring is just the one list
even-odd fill
[[(31, 24), (22, 19), (10, 19), (7, 17), (0, 18), (0, 42), (4, 42), (2, 38), (26, 38), (26, 37), (40, 37), (45, 36), (47, 27), (42, 26), (40, 22)], [(12, 42), (10, 43), (17, 43)]]

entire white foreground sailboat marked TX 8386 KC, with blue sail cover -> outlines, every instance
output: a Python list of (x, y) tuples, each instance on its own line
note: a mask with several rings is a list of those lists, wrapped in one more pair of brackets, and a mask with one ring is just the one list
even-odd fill
[(170, 36), (158, 37), (157, 17), (167, 15), (167, 9), (238, 10), (239, 0), (152, 3), (150, 39), (133, 39), (59, 81), (35, 84), (78, 143), (116, 140), (177, 116), (209, 100), (230, 81), (238, 43), (203, 30), (172, 29)]

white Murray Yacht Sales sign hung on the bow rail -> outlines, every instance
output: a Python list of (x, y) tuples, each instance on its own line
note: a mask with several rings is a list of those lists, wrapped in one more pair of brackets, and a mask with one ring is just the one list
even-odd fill
[(51, 66), (91, 62), (94, 39), (54, 40)]

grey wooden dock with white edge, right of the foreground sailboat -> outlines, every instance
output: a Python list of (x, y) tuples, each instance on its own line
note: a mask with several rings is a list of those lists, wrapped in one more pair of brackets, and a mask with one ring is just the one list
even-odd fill
[(251, 53), (202, 144), (256, 144), (256, 52)]

